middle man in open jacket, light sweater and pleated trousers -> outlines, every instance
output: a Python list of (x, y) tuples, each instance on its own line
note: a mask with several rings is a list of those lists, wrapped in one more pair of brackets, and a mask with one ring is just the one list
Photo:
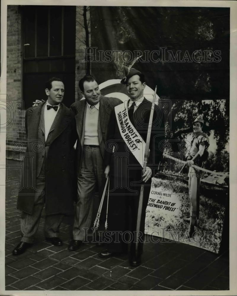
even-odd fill
[(85, 75), (79, 81), (81, 95), (85, 98), (71, 105), (78, 133), (78, 200), (73, 223), (73, 240), (68, 249), (79, 249), (91, 227), (95, 189), (99, 196), (105, 186), (104, 153), (111, 111), (121, 104), (117, 98), (102, 96), (97, 81)]

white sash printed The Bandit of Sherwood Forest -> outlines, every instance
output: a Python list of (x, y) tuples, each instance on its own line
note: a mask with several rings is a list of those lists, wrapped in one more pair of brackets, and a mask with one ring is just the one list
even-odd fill
[(126, 104), (122, 103), (114, 107), (114, 110), (119, 131), (124, 142), (143, 168), (146, 143), (132, 125)]

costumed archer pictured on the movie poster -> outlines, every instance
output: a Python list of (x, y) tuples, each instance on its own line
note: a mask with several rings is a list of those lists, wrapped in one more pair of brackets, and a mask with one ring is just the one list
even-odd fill
[(188, 172), (188, 188), (190, 198), (190, 224), (188, 228), (187, 238), (191, 238), (195, 229), (194, 226), (198, 223), (199, 218), (199, 197), (200, 197), (200, 178), (202, 171), (197, 170), (193, 165), (202, 167), (203, 162), (208, 158), (209, 138), (202, 132), (204, 126), (203, 116), (199, 115), (193, 121), (193, 139), (191, 141), (191, 148), (187, 152)]

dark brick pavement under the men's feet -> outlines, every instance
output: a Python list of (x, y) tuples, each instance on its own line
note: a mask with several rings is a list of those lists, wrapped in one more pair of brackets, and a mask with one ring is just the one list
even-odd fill
[[(14, 164), (13, 161), (10, 163)], [(17, 170), (7, 178), (18, 181)], [(182, 243), (144, 244), (142, 265), (132, 267), (127, 256), (101, 259), (103, 247), (85, 243), (77, 252), (67, 250), (70, 221), (60, 228), (62, 247), (45, 241), (44, 217), (36, 244), (20, 256), (12, 250), (20, 241), (20, 212), (13, 186), (6, 187), (6, 290), (227, 290), (229, 253), (216, 255)]]

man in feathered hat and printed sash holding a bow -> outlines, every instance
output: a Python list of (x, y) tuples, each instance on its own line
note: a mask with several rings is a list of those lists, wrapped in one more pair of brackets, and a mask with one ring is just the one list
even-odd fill
[[(107, 250), (101, 252), (100, 257), (108, 258), (116, 253), (127, 253), (128, 243), (131, 242), (130, 264), (138, 266), (141, 264), (145, 210), (151, 177), (163, 153), (159, 149), (159, 143), (164, 139), (164, 115), (161, 106), (155, 104), (150, 133), (150, 153), (146, 170), (142, 172), (142, 155), (144, 155), (147, 141), (152, 103), (143, 95), (146, 86), (144, 75), (131, 66), (124, 69), (126, 77), (121, 80), (121, 83), (126, 84), (129, 98), (127, 102), (114, 108), (108, 127), (105, 175), (110, 177), (108, 231), (111, 231), (109, 232), (111, 236), (106, 243)], [(139, 214), (142, 184), (144, 184), (144, 197)], [(139, 231), (136, 230), (138, 216), (140, 216)], [(136, 231), (139, 232), (138, 241), (134, 239), (137, 235)]]

